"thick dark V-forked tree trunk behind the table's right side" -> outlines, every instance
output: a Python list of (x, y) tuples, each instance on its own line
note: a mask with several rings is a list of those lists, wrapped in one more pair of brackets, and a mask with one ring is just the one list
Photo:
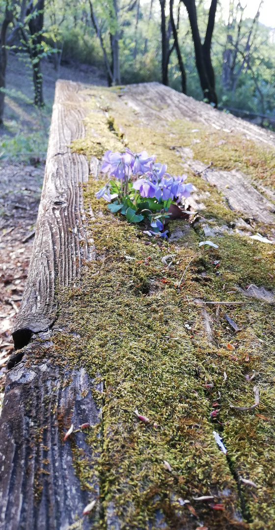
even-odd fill
[(200, 84), (204, 98), (208, 103), (214, 103), (217, 107), (218, 99), (215, 92), (215, 76), (214, 70), (211, 63), (211, 39), (212, 32), (215, 23), (215, 13), (217, 8), (217, 0), (212, 0), (210, 10), (208, 26), (206, 31), (205, 43), (202, 45), (197, 19), (197, 10), (195, 0), (182, 0), (185, 7), (187, 8), (190, 27), (192, 31), (192, 38), (194, 43), (194, 50), (196, 56), (196, 66), (200, 78)]

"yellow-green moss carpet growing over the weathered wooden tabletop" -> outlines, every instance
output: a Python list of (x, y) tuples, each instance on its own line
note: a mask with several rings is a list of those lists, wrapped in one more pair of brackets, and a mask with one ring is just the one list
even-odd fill
[[(95, 91), (93, 94), (96, 99)], [(123, 143), (136, 151), (146, 148), (166, 162), (171, 173), (178, 174), (182, 172), (181, 158), (171, 146), (189, 145), (191, 128), (201, 128), (201, 135), (206, 134), (197, 123), (187, 125), (183, 121), (180, 126), (170, 122), (166, 127), (145, 127), (132, 110), (122, 108), (114, 90), (104, 89), (97, 103), (104, 112), (108, 105), (108, 116), (102, 113), (104, 119), (94, 122), (94, 113), (99, 111), (92, 111), (86, 121), (84, 143), (79, 140), (74, 146), (88, 156), (102, 154), (90, 142), (91, 124), (94, 138), (100, 121), (96, 134), (104, 137), (97, 144), (102, 149), (114, 148), (108, 144), (111, 135), (120, 149)], [(111, 120), (112, 127), (111, 113), (117, 121)], [(125, 132), (114, 135), (112, 128)], [(201, 144), (205, 145), (202, 140)], [(193, 146), (200, 149), (200, 144)], [(210, 160), (213, 152), (209, 147)], [(217, 149), (219, 167), (233, 167), (237, 155), (230, 162), (229, 147), (228, 151), (223, 147), (223, 152), (225, 157)], [(241, 148), (238, 150), (242, 169), (247, 164), (246, 153), (243, 149), (242, 156)], [(258, 154), (260, 157), (260, 151)], [(202, 152), (196, 156), (205, 161)], [(269, 179), (268, 160), (265, 167), (264, 178)], [(199, 178), (195, 183), (202, 191), (206, 186)], [(201, 307), (193, 303), (198, 297), (247, 302), (235, 285), (274, 287), (273, 247), (227, 234), (212, 238), (219, 245), (217, 250), (201, 251), (200, 225), (196, 231), (188, 231), (188, 245), (184, 241), (149, 240), (139, 227), (114, 217), (103, 200), (95, 200), (99, 187), (99, 181), (91, 180), (85, 189), (85, 199), (95, 215), (89, 228), (97, 257), (86, 264), (76, 287), (60, 293), (58, 326), (64, 325), (68, 334), (54, 339), (60, 358), (72, 366), (85, 366), (95, 383), (104, 384), (103, 395), (95, 393), (103, 403), (99, 432), (93, 429), (87, 434), (87, 442), (94, 449), (99, 439), (101, 444), (93, 471), (101, 485), (99, 527), (105, 528), (108, 507), (114, 503), (123, 529), (153, 529), (156, 514), (171, 530), (202, 525), (220, 530), (275, 528), (273, 306), (258, 300), (220, 306), (218, 319), (217, 307), (207, 306), (213, 332), (209, 342)], [(216, 224), (236, 219), (215, 189), (207, 206), (203, 215), (215, 219)], [(174, 226), (185, 223), (174, 222)], [(173, 223), (169, 228), (172, 232)], [(270, 228), (265, 226), (264, 230)], [(161, 261), (167, 254), (173, 258), (168, 268)], [(225, 312), (241, 328), (237, 334), (224, 319)], [(229, 343), (234, 350), (228, 349)], [(245, 375), (253, 373), (255, 377), (247, 382)], [(256, 409), (240, 412), (230, 408), (230, 404), (250, 407), (254, 385), (260, 390)], [(149, 422), (139, 420), (135, 409)], [(219, 409), (217, 419), (210, 417), (215, 409)], [(213, 430), (223, 437), (227, 455), (218, 448)], [(172, 471), (166, 469), (164, 461)], [(82, 487), (87, 484), (89, 488), (90, 467), (77, 450), (75, 466)], [(240, 478), (255, 482), (258, 488)], [(212, 501), (193, 499), (210, 494)], [(190, 502), (181, 506), (179, 498)], [(211, 504), (221, 504), (224, 509), (217, 510)]]

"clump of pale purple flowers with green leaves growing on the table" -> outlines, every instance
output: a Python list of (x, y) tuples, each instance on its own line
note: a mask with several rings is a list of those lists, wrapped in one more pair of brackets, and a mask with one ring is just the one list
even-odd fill
[[(107, 151), (101, 171), (111, 179), (95, 194), (111, 204), (108, 208), (126, 215), (128, 222), (138, 223), (148, 217), (153, 233), (166, 236), (164, 229), (167, 210), (172, 201), (180, 202), (190, 196), (192, 184), (185, 184), (187, 175), (173, 176), (167, 173), (167, 165), (156, 162), (156, 156), (146, 151), (125, 153)], [(159, 214), (160, 212), (160, 214)], [(152, 232), (152, 231), (150, 231)]]

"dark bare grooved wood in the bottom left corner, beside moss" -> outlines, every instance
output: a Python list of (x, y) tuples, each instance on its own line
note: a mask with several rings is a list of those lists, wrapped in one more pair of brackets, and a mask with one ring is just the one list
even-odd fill
[[(36, 342), (25, 348), (24, 360), (33, 360)], [(51, 342), (42, 347), (50, 357)], [(8, 373), (0, 420), (1, 530), (65, 530), (97, 499), (98, 479), (89, 481), (93, 491), (81, 488), (72, 452), (82, 451), (92, 469), (87, 431), (78, 429), (100, 421), (92, 393), (84, 368), (60, 368), (47, 358), (32, 368), (20, 363)], [(72, 423), (78, 431), (64, 442)], [(84, 518), (82, 529), (90, 527), (91, 519)]]

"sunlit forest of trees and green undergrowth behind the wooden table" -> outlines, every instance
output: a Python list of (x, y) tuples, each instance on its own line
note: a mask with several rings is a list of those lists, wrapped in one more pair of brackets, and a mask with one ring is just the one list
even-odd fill
[(275, 16), (271, 27), (260, 22), (266, 3), (2, 0), (2, 160), (45, 158), (59, 77), (158, 81), (274, 130)]

